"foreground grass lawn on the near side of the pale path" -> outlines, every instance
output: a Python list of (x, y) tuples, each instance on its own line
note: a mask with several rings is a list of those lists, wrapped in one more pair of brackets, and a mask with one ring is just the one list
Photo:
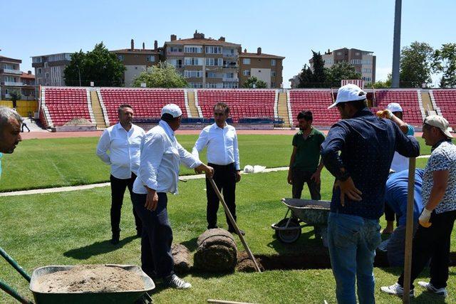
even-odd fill
[[(331, 195), (331, 177), (323, 172), (322, 196)], [(311, 229), (293, 245), (277, 241), (270, 224), (284, 216), (281, 197), (290, 196), (286, 172), (247, 174), (238, 184), (239, 226), (246, 231), (247, 242), (254, 254), (306, 254), (318, 246)], [(170, 195), (169, 214), (175, 242), (185, 243), (195, 251), (196, 239), (204, 231), (204, 179), (180, 184), (180, 194)], [(309, 196), (306, 189), (304, 197)], [(45, 265), (78, 263), (132, 263), (140, 265), (140, 240), (135, 239), (132, 206), (125, 195), (120, 246), (111, 246), (109, 187), (34, 196), (0, 197), (0, 246), (31, 272)], [(222, 210), (219, 225), (226, 228)], [(242, 248), (238, 242), (239, 248)], [(452, 251), (456, 243), (452, 242)], [(27, 284), (5, 261), (0, 261), (0, 277), (30, 296)], [(383, 295), (379, 286), (392, 284), (396, 268), (375, 268), (378, 303), (400, 303), (399, 298)], [(456, 268), (451, 268), (447, 303), (456, 301)], [(257, 303), (335, 303), (334, 281), (330, 269), (300, 271), (266, 271), (205, 275), (192, 273), (187, 279), (192, 290), (160, 290), (152, 297), (157, 303), (204, 303), (207, 298)], [(415, 303), (439, 303), (438, 298), (416, 291)], [(14, 303), (0, 293), (0, 303)]]

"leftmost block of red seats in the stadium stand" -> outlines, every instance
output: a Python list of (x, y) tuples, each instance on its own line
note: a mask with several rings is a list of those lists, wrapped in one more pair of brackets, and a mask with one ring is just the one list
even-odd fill
[(87, 88), (41, 87), (41, 117), (48, 127), (64, 125), (73, 118), (94, 122)]

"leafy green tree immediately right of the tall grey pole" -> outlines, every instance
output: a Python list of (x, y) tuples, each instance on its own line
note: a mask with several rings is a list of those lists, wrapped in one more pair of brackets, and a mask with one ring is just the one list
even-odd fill
[(424, 42), (415, 41), (400, 53), (400, 87), (421, 88), (430, 83), (434, 50)]

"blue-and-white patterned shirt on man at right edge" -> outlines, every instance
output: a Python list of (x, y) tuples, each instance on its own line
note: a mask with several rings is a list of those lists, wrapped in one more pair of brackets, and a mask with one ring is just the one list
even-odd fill
[(447, 189), (442, 201), (435, 207), (435, 213), (456, 210), (456, 146), (451, 140), (444, 140), (432, 147), (432, 153), (425, 167), (423, 177), (423, 203), (429, 202), (430, 192), (434, 186), (434, 171), (448, 171)]

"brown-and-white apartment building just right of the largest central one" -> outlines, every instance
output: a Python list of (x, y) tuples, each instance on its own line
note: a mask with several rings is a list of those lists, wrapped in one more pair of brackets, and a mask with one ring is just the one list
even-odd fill
[(263, 80), (268, 88), (281, 88), (284, 58), (261, 53), (261, 48), (257, 48), (257, 53), (247, 53), (244, 49), (239, 55), (239, 86), (254, 76)]

